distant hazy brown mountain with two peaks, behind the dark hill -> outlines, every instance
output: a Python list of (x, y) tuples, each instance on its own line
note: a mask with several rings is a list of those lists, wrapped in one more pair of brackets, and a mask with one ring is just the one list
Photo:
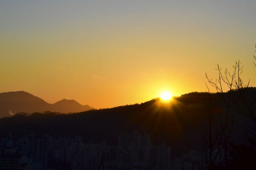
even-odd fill
[(24, 91), (0, 93), (0, 118), (11, 116), (18, 112), (81, 112), (94, 109), (81, 105), (75, 100), (60, 100), (49, 104), (43, 99)]

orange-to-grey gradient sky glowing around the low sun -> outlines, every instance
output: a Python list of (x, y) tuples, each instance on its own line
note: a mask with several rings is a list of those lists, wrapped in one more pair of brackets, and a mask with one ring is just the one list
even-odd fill
[(255, 0), (0, 0), (0, 93), (110, 108), (205, 92), (238, 60), (256, 86), (255, 16)]

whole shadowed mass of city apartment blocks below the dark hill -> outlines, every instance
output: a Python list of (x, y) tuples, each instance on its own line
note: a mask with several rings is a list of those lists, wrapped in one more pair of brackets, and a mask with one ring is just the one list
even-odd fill
[(138, 131), (118, 137), (118, 146), (102, 141), (82, 143), (82, 137), (34, 134), (0, 138), (0, 169), (20, 170), (179, 170), (203, 169), (203, 155), (190, 151), (172, 157), (166, 144), (155, 146), (151, 136)]

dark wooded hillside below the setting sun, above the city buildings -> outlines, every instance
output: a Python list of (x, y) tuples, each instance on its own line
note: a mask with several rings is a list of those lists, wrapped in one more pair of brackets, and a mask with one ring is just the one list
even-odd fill
[[(238, 106), (240, 101), (234, 100), (234, 102)], [(223, 114), (225, 104), (218, 94), (211, 95), (211, 103), (210, 108), (214, 114)], [(176, 97), (170, 103), (153, 99), (142, 104), (74, 114), (50, 112), (34, 113), (30, 116), (17, 114), (10, 118), (0, 119), (0, 133), (34, 132), (49, 133), (54, 136), (81, 135), (85, 142), (93, 139), (94, 142), (106, 140), (109, 144), (116, 144), (118, 135), (121, 133), (139, 130), (150, 133), (152, 141), (156, 144), (185, 146), (184, 135), (186, 135), (190, 143), (200, 146), (200, 135), (207, 125), (208, 111), (209, 94), (190, 93)], [(234, 110), (232, 112), (236, 120), (241, 119), (241, 116)], [(243, 131), (237, 128), (234, 134), (235, 137), (239, 137), (242, 133)]]

